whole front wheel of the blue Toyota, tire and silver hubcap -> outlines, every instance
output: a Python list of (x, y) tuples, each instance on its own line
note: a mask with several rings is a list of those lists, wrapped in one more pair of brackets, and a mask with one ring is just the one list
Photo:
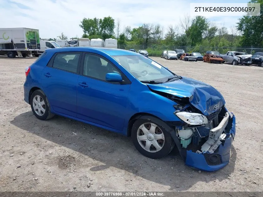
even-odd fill
[(138, 119), (132, 127), (132, 141), (144, 156), (158, 159), (166, 156), (174, 148), (171, 135), (151, 120)]

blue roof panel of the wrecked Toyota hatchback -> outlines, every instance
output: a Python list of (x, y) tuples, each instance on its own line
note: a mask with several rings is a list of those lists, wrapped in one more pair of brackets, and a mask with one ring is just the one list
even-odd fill
[(139, 55), (133, 51), (124, 49), (111, 49), (111, 48), (99, 48), (99, 47), (61, 47), (55, 49), (46, 49), (47, 52), (61, 53), (61, 52), (104, 52), (110, 56), (113, 55)]

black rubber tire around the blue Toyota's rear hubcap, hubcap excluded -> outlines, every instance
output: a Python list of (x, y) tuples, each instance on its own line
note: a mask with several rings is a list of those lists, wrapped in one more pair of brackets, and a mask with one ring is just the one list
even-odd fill
[[(36, 112), (35, 112), (35, 110), (34, 110), (34, 107), (33, 107), (33, 98), (34, 98), (35, 96), (37, 96), (37, 95), (41, 96), (42, 99), (43, 99), (43, 101), (45, 102), (45, 113), (44, 113), (43, 115), (41, 115), (41, 116), (36, 114)], [(31, 98), (30, 98), (30, 105), (31, 105), (31, 110), (33, 111), (35, 117), (37, 117), (38, 119), (40, 119), (40, 120), (48, 120), (48, 119), (54, 117), (54, 114), (52, 114), (52, 113), (50, 112), (50, 104), (49, 104), (49, 101), (48, 101), (45, 93), (44, 93), (42, 90), (36, 90), (36, 91), (34, 91), (34, 92), (32, 93)]]

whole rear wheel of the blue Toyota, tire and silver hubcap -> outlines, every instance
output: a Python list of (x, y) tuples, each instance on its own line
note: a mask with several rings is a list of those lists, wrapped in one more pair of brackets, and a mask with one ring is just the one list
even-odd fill
[(48, 120), (54, 117), (50, 112), (50, 104), (42, 90), (36, 90), (30, 98), (30, 105), (34, 115), (40, 120)]

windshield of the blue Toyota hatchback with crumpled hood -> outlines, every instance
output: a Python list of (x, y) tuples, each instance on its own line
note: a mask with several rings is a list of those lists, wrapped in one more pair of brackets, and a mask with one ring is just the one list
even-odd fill
[[(112, 57), (140, 81), (163, 83), (169, 78), (175, 77), (175, 75), (160, 64), (141, 55), (119, 55)], [(178, 78), (179, 76), (176, 77)]]

